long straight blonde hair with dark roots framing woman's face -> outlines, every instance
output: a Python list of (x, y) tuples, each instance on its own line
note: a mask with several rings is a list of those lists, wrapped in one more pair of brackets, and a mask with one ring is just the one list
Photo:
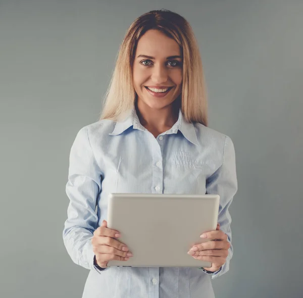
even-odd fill
[(177, 13), (154, 10), (137, 18), (127, 30), (120, 45), (116, 66), (99, 120), (118, 120), (133, 108), (136, 92), (132, 81), (132, 66), (140, 37), (156, 29), (173, 38), (183, 56), (183, 82), (180, 107), (187, 122), (208, 125), (207, 94), (199, 48), (189, 23)]

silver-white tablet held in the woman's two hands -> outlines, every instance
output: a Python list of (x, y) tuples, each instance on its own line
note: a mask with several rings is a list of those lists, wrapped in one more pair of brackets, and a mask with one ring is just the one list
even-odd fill
[(216, 230), (219, 195), (111, 193), (108, 227), (118, 230), (133, 257), (108, 266), (211, 267), (187, 252), (203, 232)]

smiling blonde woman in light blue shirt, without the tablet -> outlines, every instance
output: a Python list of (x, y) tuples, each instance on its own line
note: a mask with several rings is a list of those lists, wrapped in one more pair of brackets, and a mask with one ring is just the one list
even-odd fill
[[(231, 139), (207, 125), (190, 25), (170, 11), (140, 16), (121, 44), (102, 117), (71, 148), (63, 238), (72, 260), (90, 269), (83, 298), (214, 297), (211, 277), (228, 271), (233, 252), (228, 208), (237, 179)], [(216, 241), (188, 252), (212, 267), (107, 267), (132, 257), (107, 228), (110, 192), (219, 194), (218, 227), (206, 233)]]

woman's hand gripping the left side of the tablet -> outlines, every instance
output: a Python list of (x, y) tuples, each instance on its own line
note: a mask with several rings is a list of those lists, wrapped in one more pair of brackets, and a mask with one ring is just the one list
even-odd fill
[(118, 231), (107, 227), (106, 220), (93, 232), (91, 243), (99, 267), (107, 268), (107, 263), (111, 260), (127, 261), (132, 257), (127, 245), (114, 239), (120, 236)]

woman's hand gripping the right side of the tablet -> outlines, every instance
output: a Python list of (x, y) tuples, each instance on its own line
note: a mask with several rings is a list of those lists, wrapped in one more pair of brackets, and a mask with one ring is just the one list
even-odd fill
[(210, 231), (204, 233), (206, 237), (203, 239), (212, 239), (211, 241), (195, 244), (188, 252), (193, 258), (201, 261), (212, 262), (212, 267), (204, 268), (208, 271), (218, 271), (222, 265), (226, 262), (228, 256), (228, 249), (231, 246), (227, 241), (227, 235), (220, 230), (220, 224), (218, 223), (216, 231)]

